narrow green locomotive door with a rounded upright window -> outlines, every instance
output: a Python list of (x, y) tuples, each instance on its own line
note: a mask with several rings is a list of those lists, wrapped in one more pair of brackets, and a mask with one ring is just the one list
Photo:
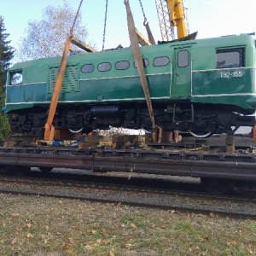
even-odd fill
[(176, 48), (173, 52), (171, 98), (191, 96), (191, 48)]

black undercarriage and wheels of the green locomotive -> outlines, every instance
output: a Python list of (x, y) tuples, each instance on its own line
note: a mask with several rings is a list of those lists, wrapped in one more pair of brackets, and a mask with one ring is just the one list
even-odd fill
[[(183, 107), (184, 106), (184, 107)], [(210, 137), (213, 133), (232, 133), (241, 125), (254, 125), (254, 117), (232, 113), (231, 110), (219, 112), (218, 109), (201, 110), (200, 105), (188, 108), (180, 103), (174, 108), (154, 104), (155, 124), (165, 131), (189, 131), (194, 137)], [(177, 108), (178, 107), (178, 108)], [(182, 108), (183, 107), (183, 108)], [(220, 106), (217, 105), (220, 108)], [(45, 111), (45, 109), (43, 109)], [(31, 132), (44, 129), (46, 113), (10, 114), (9, 123), (13, 132)], [(109, 125), (130, 129), (150, 131), (152, 123), (145, 104), (115, 105), (96, 108), (87, 106), (77, 108), (58, 108), (53, 122), (55, 129), (68, 130), (73, 134), (90, 132), (95, 129), (108, 129)], [(235, 127), (231, 130), (231, 127)]]

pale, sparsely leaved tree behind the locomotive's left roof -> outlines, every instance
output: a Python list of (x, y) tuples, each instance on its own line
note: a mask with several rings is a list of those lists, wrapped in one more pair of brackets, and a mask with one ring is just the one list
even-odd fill
[[(44, 57), (61, 56), (70, 27), (77, 10), (64, 2), (63, 6), (48, 6), (43, 10), (43, 20), (29, 20), (26, 36), (20, 39), (17, 49), (17, 59), (20, 61), (34, 60)], [(85, 42), (88, 32), (82, 25), (81, 15), (78, 15), (74, 26), (74, 36)], [(73, 50), (77, 47), (72, 45)]]

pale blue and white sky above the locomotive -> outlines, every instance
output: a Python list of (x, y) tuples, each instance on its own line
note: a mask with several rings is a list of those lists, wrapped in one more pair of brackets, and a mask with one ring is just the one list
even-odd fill
[[(154, 0), (141, 0), (155, 40), (161, 40), (159, 20)], [(2, 3), (1, 3), (2, 2)], [(255, 0), (186, 0), (189, 32), (198, 32), (197, 38), (213, 38), (230, 34), (256, 31)], [(3, 16), (10, 45), (15, 47), (26, 36), (28, 20), (42, 20), (43, 10), (61, 6), (64, 0), (0, 0), (0, 15)], [(79, 8), (80, 0), (67, 0), (73, 9)], [(139, 0), (130, 0), (131, 12), (137, 28), (145, 36), (143, 13)], [(106, 0), (84, 0), (81, 7), (83, 24), (89, 32), (88, 42), (102, 49), (103, 25)], [(108, 0), (108, 20), (105, 49), (122, 44), (129, 46), (124, 0)]]

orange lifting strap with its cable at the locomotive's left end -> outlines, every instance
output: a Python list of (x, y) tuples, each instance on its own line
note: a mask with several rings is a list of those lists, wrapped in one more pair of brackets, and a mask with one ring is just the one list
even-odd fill
[[(83, 0), (81, 0), (81, 2), (79, 4), (79, 9), (81, 8), (82, 3), (83, 3)], [(77, 14), (76, 14), (74, 20), (73, 20), (73, 26), (70, 28), (70, 35), (67, 37), (67, 40), (66, 40), (66, 43), (64, 46), (59, 72), (57, 74), (57, 78), (55, 81), (54, 92), (51, 96), (51, 100), (50, 100), (50, 104), (49, 104), (49, 112), (48, 112), (47, 121), (46, 121), (46, 124), (44, 125), (44, 141), (53, 141), (54, 137), (55, 137), (55, 127), (54, 127), (54, 125), (52, 125), (52, 123), (55, 118), (55, 112), (56, 112), (57, 104), (59, 101), (59, 96), (61, 93), (61, 85), (62, 85), (62, 82), (64, 79), (65, 70), (67, 67), (67, 56), (68, 56), (69, 49), (70, 49), (71, 38), (73, 38), (73, 27), (78, 18), (79, 9), (77, 11)]]

